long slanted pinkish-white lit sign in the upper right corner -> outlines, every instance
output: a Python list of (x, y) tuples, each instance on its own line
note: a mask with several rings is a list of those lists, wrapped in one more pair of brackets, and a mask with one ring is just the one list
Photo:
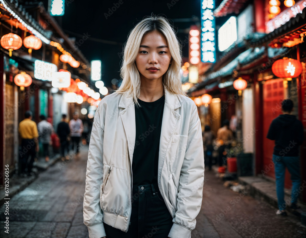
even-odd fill
[(296, 17), (298, 13), (302, 13), (302, 10), (306, 7), (306, 1), (302, 0), (297, 2), (294, 6), (285, 9), (281, 13), (279, 13), (276, 17), (269, 20), (267, 22), (266, 33), (273, 32), (276, 28), (279, 28), (287, 21), (290, 20), (291, 17)]

